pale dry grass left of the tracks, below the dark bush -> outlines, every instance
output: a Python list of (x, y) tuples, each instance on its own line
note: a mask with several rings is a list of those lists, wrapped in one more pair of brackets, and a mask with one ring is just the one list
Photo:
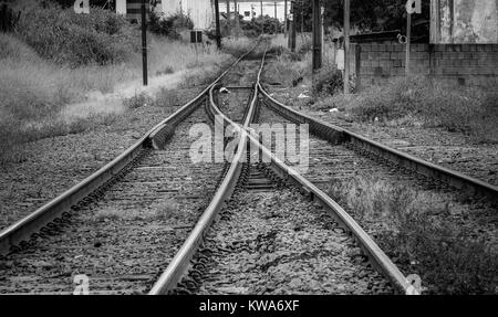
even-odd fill
[[(149, 40), (152, 74), (188, 70), (200, 82), (230, 59), (215, 49), (198, 50), (196, 55), (188, 43), (156, 36)], [(112, 93), (120, 84), (141, 78), (141, 56), (136, 54), (127, 63), (73, 68), (46, 61), (18, 38), (1, 33), (0, 162), (23, 160), (20, 150), (24, 142), (85, 131), (108, 124), (111, 115), (138, 106), (141, 94), (129, 101), (129, 107), (102, 107), (100, 98), (93, 103), (100, 106), (83, 106), (82, 103), (92, 101), (94, 95)], [(104, 104), (110, 105), (108, 102)]]

